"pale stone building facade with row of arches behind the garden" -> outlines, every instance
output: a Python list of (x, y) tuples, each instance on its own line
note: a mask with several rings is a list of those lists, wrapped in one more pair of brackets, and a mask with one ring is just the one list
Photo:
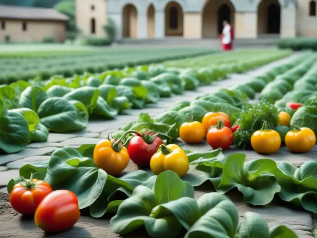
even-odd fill
[(105, 33), (106, 16), (121, 38), (216, 38), (223, 20), (236, 38), (317, 37), (315, 0), (76, 0), (77, 26)]

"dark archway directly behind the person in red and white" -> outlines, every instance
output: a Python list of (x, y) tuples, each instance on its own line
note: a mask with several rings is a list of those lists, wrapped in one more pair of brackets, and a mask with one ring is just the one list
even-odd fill
[(235, 7), (230, 0), (207, 0), (202, 10), (203, 38), (219, 37), (222, 32), (223, 21), (229, 21), (234, 27)]

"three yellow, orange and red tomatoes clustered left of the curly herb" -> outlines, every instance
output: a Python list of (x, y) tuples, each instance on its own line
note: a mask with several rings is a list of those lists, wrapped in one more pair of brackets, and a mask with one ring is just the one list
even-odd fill
[(233, 143), (230, 117), (224, 112), (208, 112), (202, 122), (185, 122), (179, 128), (179, 136), (186, 143), (199, 143), (206, 136), (207, 143), (213, 149), (228, 149)]

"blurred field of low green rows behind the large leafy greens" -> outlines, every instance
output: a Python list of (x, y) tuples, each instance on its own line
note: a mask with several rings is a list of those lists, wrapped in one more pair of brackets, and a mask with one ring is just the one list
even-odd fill
[[(101, 73), (108, 69), (122, 69), (125, 66), (159, 63), (166, 60), (211, 54), (210, 49), (101, 49), (99, 51), (75, 51), (13, 57), (15, 54), (0, 54), (0, 83), (18, 80), (28, 81), (34, 77), (47, 80), (55, 75), (71, 77), (84, 72)], [(36, 57), (37, 56), (37, 57)]]

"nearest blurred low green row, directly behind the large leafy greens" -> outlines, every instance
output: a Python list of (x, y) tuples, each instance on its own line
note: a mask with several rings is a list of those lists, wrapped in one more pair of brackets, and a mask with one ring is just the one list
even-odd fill
[[(12, 83), (18, 80), (29, 80), (39, 77), (41, 80), (47, 80), (55, 75), (71, 77), (74, 74), (83, 74), (84, 72), (101, 73), (108, 69), (123, 69), (126, 66), (136, 66), (150, 63), (160, 63), (166, 60), (175, 60), (185, 57), (193, 57), (215, 53), (215, 50), (206, 49), (153, 49), (146, 52), (125, 52), (110, 54), (97, 54), (90, 58), (74, 56), (72, 60), (56, 59), (53, 62), (47, 60), (38, 63), (36, 60), (32, 63), (29, 60), (18, 68), (4, 67), (0, 76), (0, 83)], [(0, 66), (1, 67), (1, 66)]]

